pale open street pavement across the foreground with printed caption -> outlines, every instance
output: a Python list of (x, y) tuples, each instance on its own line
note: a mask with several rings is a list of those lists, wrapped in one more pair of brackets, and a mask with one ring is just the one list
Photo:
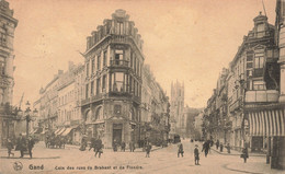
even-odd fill
[[(163, 149), (153, 149), (150, 158), (145, 158), (145, 152), (137, 149), (134, 153), (113, 152), (105, 149), (102, 158), (95, 158), (93, 151), (79, 151), (79, 147), (67, 146), (66, 149), (46, 149), (43, 142), (36, 144), (34, 159), (8, 159), (7, 151), (1, 149), (1, 171), (7, 174), (13, 170), (13, 163), (20, 161), (22, 171), (14, 173), (282, 173), (270, 170), (265, 164), (265, 156), (250, 156), (243, 163), (239, 155), (225, 155), (212, 150), (207, 158), (201, 153), (201, 165), (194, 165), (193, 147), (196, 142), (183, 141), (184, 156), (178, 158), (175, 144)], [(201, 150), (201, 144), (200, 144)], [(123, 155), (124, 154), (124, 155)], [(31, 170), (33, 166), (44, 166), (43, 170)], [(68, 167), (69, 166), (69, 167)], [(88, 166), (91, 166), (89, 170)]]

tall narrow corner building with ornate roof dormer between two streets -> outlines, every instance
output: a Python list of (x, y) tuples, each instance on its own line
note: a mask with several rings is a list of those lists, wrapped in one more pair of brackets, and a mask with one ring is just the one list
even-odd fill
[(104, 20), (87, 37), (86, 86), (81, 112), (88, 138), (138, 142), (141, 101), (142, 40), (124, 10)]

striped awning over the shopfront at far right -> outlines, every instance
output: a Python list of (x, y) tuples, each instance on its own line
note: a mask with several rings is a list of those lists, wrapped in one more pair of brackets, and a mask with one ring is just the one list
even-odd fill
[(249, 111), (250, 136), (285, 136), (285, 108), (261, 108)]

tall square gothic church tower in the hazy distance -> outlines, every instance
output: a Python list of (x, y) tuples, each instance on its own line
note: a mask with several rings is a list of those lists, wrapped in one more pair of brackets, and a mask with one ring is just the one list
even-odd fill
[[(184, 82), (171, 83), (171, 102), (170, 102), (170, 135), (178, 134), (185, 136), (186, 134), (186, 117), (183, 114), (184, 109)], [(184, 116), (184, 117), (183, 117)]]

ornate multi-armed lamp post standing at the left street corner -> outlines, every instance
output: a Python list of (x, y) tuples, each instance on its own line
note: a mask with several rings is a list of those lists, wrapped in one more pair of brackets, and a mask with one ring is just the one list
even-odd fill
[(32, 109), (30, 108), (30, 102), (27, 101), (26, 102), (26, 109), (23, 112), (21, 111), (21, 108), (19, 109), (18, 112), (18, 115), (22, 117), (23, 120), (26, 121), (26, 137), (29, 137), (29, 124), (30, 121), (34, 121), (35, 120), (35, 117), (37, 116), (37, 109), (35, 108), (33, 112)]

